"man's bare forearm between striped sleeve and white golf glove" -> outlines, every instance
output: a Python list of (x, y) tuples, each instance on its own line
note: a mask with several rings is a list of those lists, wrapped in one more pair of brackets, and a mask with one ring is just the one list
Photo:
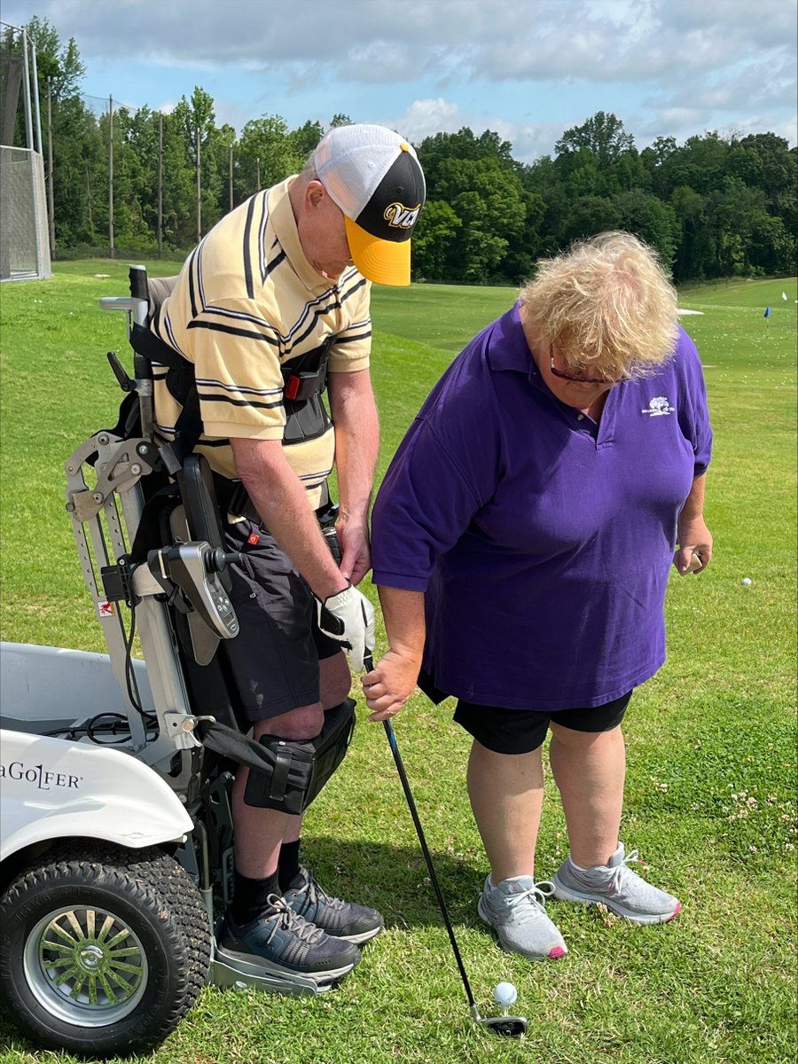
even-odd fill
[(321, 599), (343, 591), (338, 569), (281, 439), (231, 439), (235, 467), (264, 525)]

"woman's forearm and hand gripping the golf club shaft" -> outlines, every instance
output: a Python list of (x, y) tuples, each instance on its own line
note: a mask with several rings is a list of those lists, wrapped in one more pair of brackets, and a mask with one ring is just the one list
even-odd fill
[(388, 650), (363, 677), (369, 720), (387, 720), (401, 710), (416, 686), (421, 668), (426, 624), (423, 592), (381, 585), (380, 605)]

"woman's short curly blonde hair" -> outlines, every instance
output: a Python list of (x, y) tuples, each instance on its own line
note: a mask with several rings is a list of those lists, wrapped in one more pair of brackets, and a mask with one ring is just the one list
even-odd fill
[(654, 251), (631, 233), (600, 233), (542, 260), (520, 301), (537, 339), (556, 343), (572, 369), (628, 380), (674, 352), (676, 289)]

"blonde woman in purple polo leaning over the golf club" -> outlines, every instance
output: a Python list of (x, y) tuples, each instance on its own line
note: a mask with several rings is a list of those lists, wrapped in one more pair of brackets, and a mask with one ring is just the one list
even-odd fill
[[(669, 566), (712, 556), (712, 433), (676, 305), (626, 233), (542, 262), (435, 386), (375, 505), (389, 649), (363, 680), (369, 719), (397, 713), (417, 679), (435, 701), (456, 697), (491, 865), (479, 914), (535, 960), (567, 952), (552, 893), (641, 924), (680, 909), (618, 838), (620, 724), (665, 660)], [(570, 844), (553, 883), (534, 878), (549, 730)]]

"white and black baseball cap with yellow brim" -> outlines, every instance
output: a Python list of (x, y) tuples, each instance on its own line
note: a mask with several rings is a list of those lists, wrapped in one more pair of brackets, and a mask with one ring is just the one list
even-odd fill
[(410, 284), (410, 238), (427, 194), (412, 145), (384, 126), (338, 126), (313, 162), (344, 212), (361, 273), (378, 284)]

